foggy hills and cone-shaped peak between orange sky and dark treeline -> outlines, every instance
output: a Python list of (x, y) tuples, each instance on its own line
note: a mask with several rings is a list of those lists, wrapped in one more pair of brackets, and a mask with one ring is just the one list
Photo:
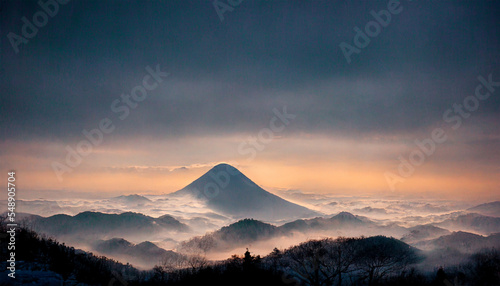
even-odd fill
[[(271, 194), (236, 168), (220, 164), (172, 194), (79, 202), (36, 200), (26, 206), (43, 213), (95, 211), (50, 217), (19, 213), (19, 218), (29, 218), (34, 229), (68, 245), (146, 268), (158, 263), (158, 256), (202, 253), (218, 260), (247, 247), (266, 255), (274, 247), (286, 248), (309, 239), (375, 235), (430, 249), (436, 255), (429, 261), (441, 261), (440, 255), (452, 261), (464, 259), (469, 244), (478, 250), (497, 245), (498, 239), (460, 232), (446, 237), (450, 231), (500, 232), (500, 218), (471, 213), (494, 212), (497, 202), (471, 207), (454, 202), (294, 194), (307, 197), (307, 201), (292, 198), (294, 201), (328, 215)], [(443, 245), (450, 248), (443, 250)]]

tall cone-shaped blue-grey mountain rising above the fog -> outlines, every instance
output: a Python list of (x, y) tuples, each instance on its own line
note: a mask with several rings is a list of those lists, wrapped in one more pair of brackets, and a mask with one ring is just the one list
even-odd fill
[(265, 191), (228, 164), (213, 167), (172, 196), (195, 197), (214, 211), (233, 218), (280, 221), (319, 215)]

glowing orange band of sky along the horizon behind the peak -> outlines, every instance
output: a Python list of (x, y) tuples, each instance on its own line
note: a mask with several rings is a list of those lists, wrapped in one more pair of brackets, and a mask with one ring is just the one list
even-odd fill
[[(212, 138), (217, 144), (207, 147), (209, 151), (205, 152), (199, 149), (210, 142), (209, 139), (190, 140), (189, 144), (175, 140), (164, 144), (143, 142), (144, 145), (135, 145), (139, 148), (130, 145), (113, 145), (113, 150), (109, 150), (110, 146), (97, 148), (96, 153), (85, 158), (81, 166), (66, 173), (62, 182), (50, 167), (54, 160), (61, 160), (61, 150), (64, 150), (61, 145), (10, 142), (8, 144), (14, 146), (12, 152), (0, 154), (0, 162), (3, 162), (0, 166), (7, 171), (11, 166), (5, 162), (17, 162), (14, 167), (18, 170), (20, 186), (32, 191), (163, 194), (183, 188), (207, 172), (218, 162), (217, 158), (226, 158), (225, 162), (233, 164), (265, 189), (353, 196), (426, 194), (453, 199), (500, 199), (500, 185), (496, 179), (500, 172), (498, 168), (489, 168), (488, 165), (477, 168), (477, 164), (471, 167), (473, 164), (467, 160), (445, 161), (442, 158), (429, 160), (416, 168), (414, 175), (391, 192), (384, 172), (396, 172), (394, 158), (406, 150), (395, 143), (328, 137), (276, 139), (249, 161), (241, 160), (242, 155), (236, 152), (240, 142), (236, 138)], [(31, 145), (36, 148), (31, 148)], [(441, 156), (453, 155), (450, 150), (441, 152)], [(186, 161), (190, 163), (185, 164)]]

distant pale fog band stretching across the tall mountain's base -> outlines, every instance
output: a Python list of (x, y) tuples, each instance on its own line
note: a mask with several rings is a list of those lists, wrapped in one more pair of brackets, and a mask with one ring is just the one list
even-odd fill
[[(213, 187), (213, 185), (210, 186)], [(209, 188), (208, 194), (210, 194), (211, 191), (212, 190)], [(289, 192), (276, 189), (273, 189), (272, 191), (273, 193), (277, 193), (279, 197), (290, 197), (286, 195), (286, 193)], [(367, 216), (376, 221), (399, 223), (400, 225), (406, 227), (439, 223), (449, 218), (456, 218), (460, 215), (471, 213), (473, 212), (472, 210), (475, 209), (470, 202), (460, 201), (340, 197), (324, 194), (302, 194), (299, 191), (294, 191), (293, 193), (301, 194), (290, 198), (294, 203), (308, 206), (310, 209), (315, 211), (323, 212), (323, 214), (316, 214), (313, 217), (331, 216), (333, 214), (346, 211), (356, 215)], [(306, 198), (303, 198), (304, 196)], [(235, 199), (238, 200), (238, 196), (236, 196)], [(248, 216), (239, 216), (233, 215), (229, 212), (216, 210), (211, 206), (211, 204), (208, 204), (208, 200), (209, 198), (207, 198), (202, 192), (199, 192), (198, 196), (187, 195), (187, 197), (178, 194), (158, 195), (141, 193), (122, 195), (119, 197), (115, 196), (106, 199), (68, 199), (65, 197), (59, 197), (57, 199), (53, 198), (48, 200), (47, 198), (39, 198), (32, 201), (20, 200), (17, 210), (18, 212), (36, 214), (44, 217), (55, 214), (77, 215), (85, 211), (109, 214), (135, 212), (151, 217), (171, 215), (177, 220), (190, 225), (193, 230), (199, 230), (196, 235), (204, 234), (206, 231), (218, 229), (238, 219), (260, 219), (258, 216), (254, 216), (252, 212), (248, 213)], [(241, 198), (237, 205), (245, 206), (245, 198)], [(494, 205), (495, 203), (484, 204), (484, 206), (492, 206), (493, 209)], [(5, 209), (7, 208), (5, 201), (0, 202), (0, 206), (4, 206)], [(477, 211), (477, 213), (492, 215), (481, 211)], [(291, 222), (296, 219), (307, 219), (310, 217), (310, 214), (306, 213), (306, 216), (304, 217), (296, 216), (276, 221), (262, 220), (275, 224), (281, 224), (284, 222)], [(195, 218), (196, 220), (193, 220)]]

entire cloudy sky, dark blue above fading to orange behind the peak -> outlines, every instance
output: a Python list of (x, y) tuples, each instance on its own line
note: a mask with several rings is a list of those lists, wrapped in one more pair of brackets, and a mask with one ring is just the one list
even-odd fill
[(168, 193), (227, 162), (268, 189), (500, 199), (500, 3), (238, 2), (2, 1), (3, 174)]

